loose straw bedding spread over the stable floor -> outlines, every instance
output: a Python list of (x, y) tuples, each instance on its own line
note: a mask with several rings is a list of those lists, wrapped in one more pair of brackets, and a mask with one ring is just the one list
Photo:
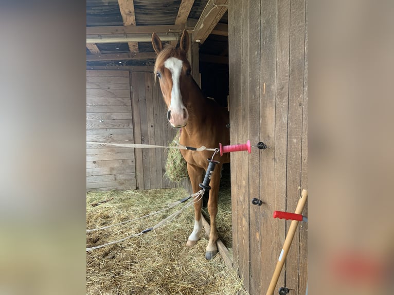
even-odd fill
[[(187, 193), (183, 188), (88, 192), (87, 229), (146, 215), (185, 196)], [(111, 201), (97, 207), (90, 205), (112, 197)], [(86, 247), (102, 245), (138, 233), (154, 226), (180, 207), (182, 205), (132, 223), (87, 233)], [(221, 209), (218, 222), (220, 214)], [(86, 252), (86, 293), (247, 294), (236, 271), (228, 269), (220, 255), (211, 261), (205, 260), (205, 247), (208, 243), (205, 235), (194, 248), (185, 247), (193, 229), (193, 216), (193, 208), (189, 207), (172, 222), (155, 231)], [(221, 233), (219, 235), (223, 238)]]

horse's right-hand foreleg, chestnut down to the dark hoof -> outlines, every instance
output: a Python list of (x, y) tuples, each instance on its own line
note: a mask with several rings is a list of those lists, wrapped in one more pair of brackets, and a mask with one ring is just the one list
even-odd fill
[(217, 165), (213, 171), (210, 181), (212, 189), (209, 191), (208, 212), (211, 219), (211, 229), (209, 232), (208, 246), (205, 252), (205, 258), (208, 260), (212, 259), (213, 256), (218, 253), (218, 246), (216, 245), (216, 241), (218, 240), (218, 232), (216, 231), (216, 214), (218, 213), (218, 194), (221, 170), (222, 164)]

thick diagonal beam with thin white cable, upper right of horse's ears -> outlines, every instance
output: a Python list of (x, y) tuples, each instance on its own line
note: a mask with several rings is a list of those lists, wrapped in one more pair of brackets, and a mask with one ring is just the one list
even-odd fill
[(227, 0), (216, 0), (215, 4), (213, 4), (213, 1), (208, 1), (199, 21), (194, 27), (193, 42), (200, 40), (200, 43), (203, 44), (226, 11)]

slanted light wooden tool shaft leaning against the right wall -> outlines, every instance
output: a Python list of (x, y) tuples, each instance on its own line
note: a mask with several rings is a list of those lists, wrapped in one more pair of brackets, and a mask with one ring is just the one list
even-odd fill
[[(302, 210), (305, 207), (308, 198), (308, 191), (302, 190), (301, 198), (298, 200), (297, 208), (294, 213), (302, 214)], [(288, 255), (290, 246), (293, 242), (294, 234), (298, 228), (298, 220), (293, 220), (290, 224), (290, 228), (286, 238), (284, 240), (282, 251), (280, 252), (278, 263), (276, 264), (274, 274), (272, 275), (270, 286), (268, 286), (268, 290), (266, 295), (273, 295), (276, 284), (278, 283), (280, 272), (282, 271), (284, 261), (286, 260), (286, 256)]]

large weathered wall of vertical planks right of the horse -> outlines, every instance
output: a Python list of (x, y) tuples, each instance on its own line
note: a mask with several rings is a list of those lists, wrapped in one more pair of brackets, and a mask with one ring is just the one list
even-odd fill
[[(273, 212), (294, 212), (308, 188), (306, 7), (304, 0), (228, 2), (231, 144), (270, 147), (231, 154), (233, 253), (252, 295), (266, 293), (290, 226)], [(253, 205), (254, 197), (267, 204)], [(274, 293), (283, 286), (305, 294), (305, 223)]]

